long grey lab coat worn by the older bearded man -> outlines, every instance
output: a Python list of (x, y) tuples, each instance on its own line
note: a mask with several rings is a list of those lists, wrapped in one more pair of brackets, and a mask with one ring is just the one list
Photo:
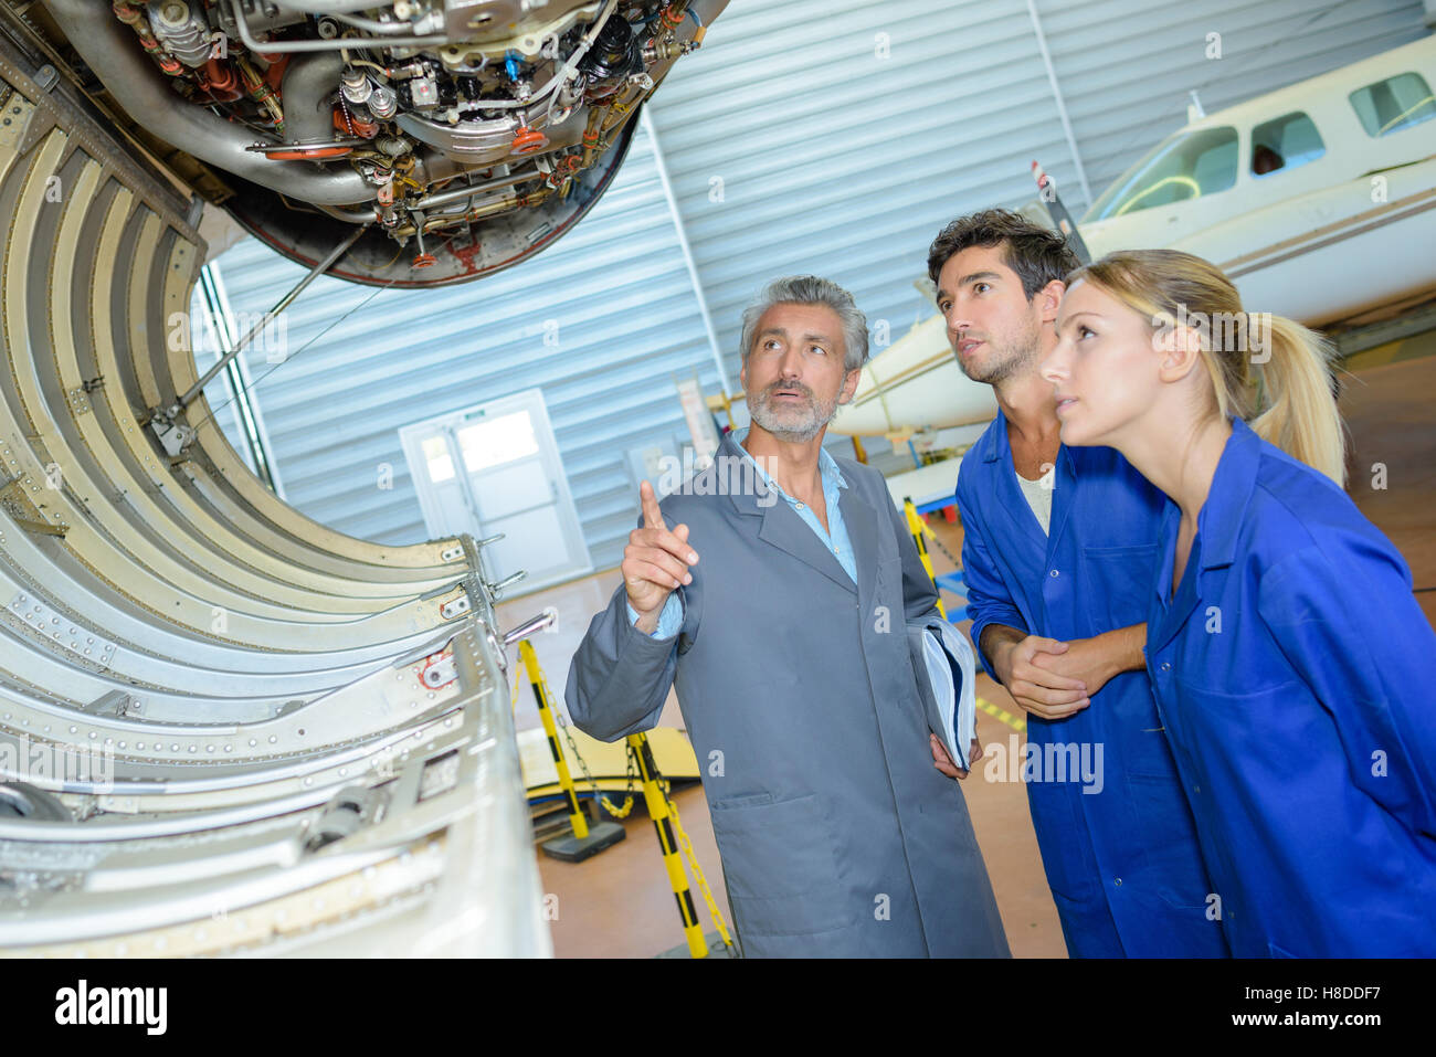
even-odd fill
[[(741, 457), (731, 438), (722, 455)], [(719, 458), (661, 503), (699, 554), (682, 629), (639, 632), (619, 585), (574, 653), (569, 712), (616, 741), (652, 728), (676, 681), (747, 956), (1008, 956), (909, 653), (936, 593), (882, 475), (839, 464), (856, 587), (781, 497), (731, 494)]]

